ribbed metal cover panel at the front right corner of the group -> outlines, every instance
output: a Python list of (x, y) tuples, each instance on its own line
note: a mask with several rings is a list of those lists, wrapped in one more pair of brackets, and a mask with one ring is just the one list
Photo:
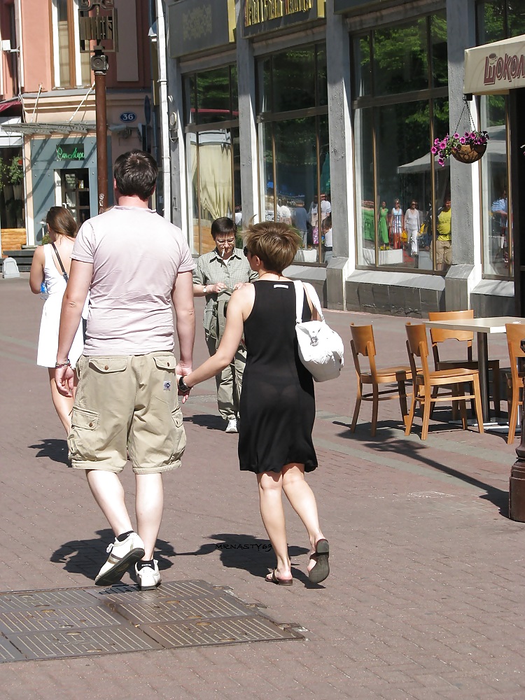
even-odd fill
[(293, 633), (281, 629), (264, 617), (230, 617), (200, 622), (175, 622), (146, 625), (141, 629), (164, 647), (196, 647), (207, 644), (297, 638)]

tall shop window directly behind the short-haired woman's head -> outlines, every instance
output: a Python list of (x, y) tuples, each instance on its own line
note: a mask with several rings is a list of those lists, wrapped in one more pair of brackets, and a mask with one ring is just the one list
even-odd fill
[(261, 59), (258, 85), (262, 218), (297, 229), (295, 260), (326, 262), (332, 208), (324, 45)]

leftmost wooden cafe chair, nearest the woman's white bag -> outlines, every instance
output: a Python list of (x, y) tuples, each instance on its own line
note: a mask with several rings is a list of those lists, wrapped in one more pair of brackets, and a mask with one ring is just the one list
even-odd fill
[[(352, 323), (350, 330), (352, 334), (350, 346), (352, 349), (353, 364), (356, 367), (357, 375), (356, 406), (353, 409), (353, 419), (350, 430), (352, 433), (354, 433), (356, 430), (361, 401), (371, 401), (371, 433), (372, 437), (374, 437), (377, 428), (377, 411), (379, 408), (379, 401), (398, 398), (403, 421), (406, 420), (408, 410), (405, 382), (412, 379), (412, 374), (408, 365), (382, 368), (376, 366), (374, 332), (371, 325), (354, 325)], [(366, 367), (365, 370), (361, 369), (359, 360), (360, 355), (368, 360), (368, 367)], [(397, 388), (391, 386), (389, 388), (380, 389), (379, 387), (383, 384), (397, 384), (398, 386)], [(363, 386), (365, 385), (370, 385), (372, 391), (369, 393), (364, 393)]]

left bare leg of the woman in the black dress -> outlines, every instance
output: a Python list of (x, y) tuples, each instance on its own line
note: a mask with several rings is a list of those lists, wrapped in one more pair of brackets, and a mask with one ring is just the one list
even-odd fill
[(284, 520), (283, 502), (281, 498), (283, 479), (276, 472), (263, 472), (257, 475), (259, 486), (259, 505), (262, 522), (268, 533), (277, 558), (275, 575), (285, 580), (291, 579), (290, 559), (288, 557), (288, 542), (286, 542), (286, 523)]

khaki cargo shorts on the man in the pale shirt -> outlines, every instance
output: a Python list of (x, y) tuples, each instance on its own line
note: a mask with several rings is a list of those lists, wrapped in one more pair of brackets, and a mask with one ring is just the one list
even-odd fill
[(181, 465), (186, 433), (175, 365), (169, 351), (80, 356), (67, 438), (73, 468), (118, 473), (127, 454), (136, 474), (166, 472)]

